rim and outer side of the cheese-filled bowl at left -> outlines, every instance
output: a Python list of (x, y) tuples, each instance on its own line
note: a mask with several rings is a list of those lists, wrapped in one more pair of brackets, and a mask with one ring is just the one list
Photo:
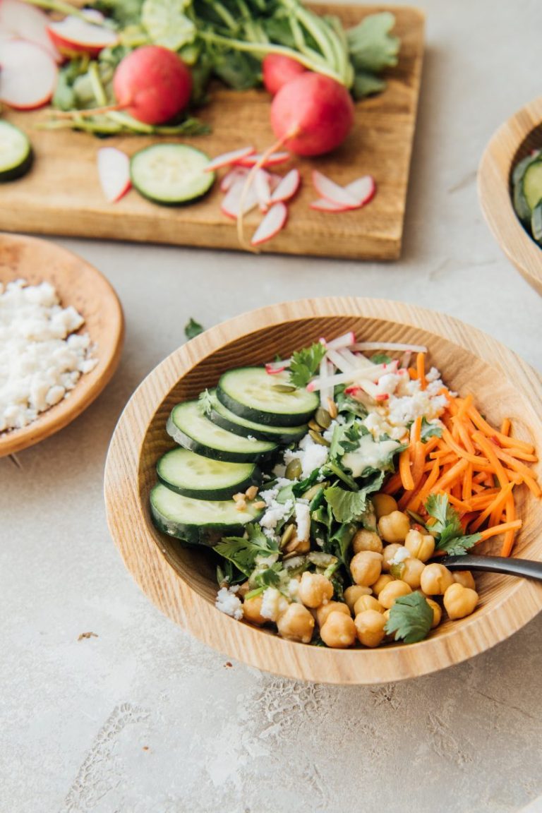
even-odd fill
[[(98, 395), (102, 393), (102, 390), (111, 380), (119, 364), (124, 343), (124, 313), (111, 282), (107, 280), (102, 272), (98, 271), (98, 268), (73, 251), (58, 246), (52, 241), (41, 240), (39, 237), (1, 232), (0, 239), (3, 246), (9, 244), (13, 246), (23, 245), (49, 255), (54, 254), (60, 260), (66, 259), (70, 266), (76, 263), (77, 267), (85, 269), (85, 272), (92, 276), (95, 283), (93, 293), (96, 294), (99, 302), (107, 302), (108, 307), (107, 338), (106, 341), (103, 338), (98, 341), (98, 364), (96, 367), (81, 376), (69, 398), (64, 398), (63, 401), (51, 406), (46, 412), (42, 412), (33, 423), (20, 429), (11, 429), (7, 433), (0, 433), (0, 458), (2, 458), (8, 454), (15, 454), (15, 452), (28, 449), (29, 446), (34, 446), (36, 443), (45, 440), (46, 437), (59, 432), (67, 424), (71, 424), (72, 420), (75, 420), (85, 411), (87, 406), (90, 406), (98, 398)], [(48, 280), (48, 273), (44, 272), (42, 278), (44, 281)], [(61, 296), (61, 302), (63, 307), (71, 304), (63, 296)], [(82, 312), (84, 309), (78, 306), (78, 310)], [(85, 316), (85, 313), (82, 313), (82, 315)], [(86, 320), (82, 329), (90, 334), (91, 340), (95, 338), (86, 325)]]

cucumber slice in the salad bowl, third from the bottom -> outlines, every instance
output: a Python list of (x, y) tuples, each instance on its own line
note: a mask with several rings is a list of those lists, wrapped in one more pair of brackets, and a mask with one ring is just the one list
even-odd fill
[(275, 443), (239, 437), (216, 426), (203, 415), (197, 401), (174, 406), (166, 428), (173, 440), (185, 449), (228, 463), (256, 463), (270, 458), (278, 448)]

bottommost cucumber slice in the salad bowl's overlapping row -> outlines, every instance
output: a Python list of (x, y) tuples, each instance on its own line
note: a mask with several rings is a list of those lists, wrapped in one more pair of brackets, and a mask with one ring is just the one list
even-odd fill
[(254, 503), (237, 511), (233, 500), (195, 500), (158, 483), (150, 492), (150, 513), (159, 531), (193, 545), (216, 545), (224, 535), (242, 536), (245, 524), (262, 515)]

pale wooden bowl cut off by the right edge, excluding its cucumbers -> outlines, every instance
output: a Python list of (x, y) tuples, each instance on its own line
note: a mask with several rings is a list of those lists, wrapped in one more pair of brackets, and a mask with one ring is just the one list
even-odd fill
[(478, 169), (483, 216), (501, 249), (529, 285), (542, 294), (542, 249), (514, 211), (510, 179), (518, 161), (542, 147), (542, 96), (522, 107), (496, 131)]

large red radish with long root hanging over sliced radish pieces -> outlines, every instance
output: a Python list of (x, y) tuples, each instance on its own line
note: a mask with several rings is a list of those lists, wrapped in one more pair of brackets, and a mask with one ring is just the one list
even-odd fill
[(293, 153), (323, 155), (345, 140), (353, 113), (353, 101), (344, 85), (307, 71), (276, 94), (271, 102), (271, 126), (279, 143)]

